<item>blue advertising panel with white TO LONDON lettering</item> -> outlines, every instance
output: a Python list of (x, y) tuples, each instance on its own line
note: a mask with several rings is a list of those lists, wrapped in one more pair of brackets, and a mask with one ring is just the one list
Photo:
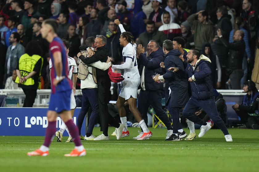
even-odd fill
[[(76, 124), (81, 108), (76, 108), (72, 120)], [(0, 135), (44, 136), (48, 108), (0, 108)], [(60, 128), (62, 120), (57, 117), (56, 127)], [(85, 133), (85, 119), (81, 133)], [(64, 136), (68, 136), (64, 131)]]

